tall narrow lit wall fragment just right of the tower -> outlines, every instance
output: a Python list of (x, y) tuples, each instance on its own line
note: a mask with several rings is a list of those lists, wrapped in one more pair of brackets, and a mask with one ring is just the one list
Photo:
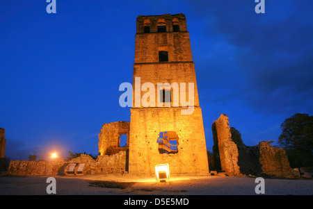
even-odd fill
[(225, 171), (225, 174), (230, 176), (240, 175), (238, 148), (232, 141), (232, 133), (230, 132), (227, 115), (220, 115), (218, 120), (214, 122), (213, 128), (215, 128), (214, 132), (216, 131), (217, 136), (221, 169)]

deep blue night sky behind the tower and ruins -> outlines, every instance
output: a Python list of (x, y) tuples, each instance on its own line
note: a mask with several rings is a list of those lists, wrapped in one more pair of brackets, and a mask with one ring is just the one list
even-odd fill
[(97, 154), (104, 123), (130, 121), (118, 99), (132, 83), (136, 17), (184, 13), (207, 149), (220, 114), (246, 145), (277, 140), (313, 113), (312, 1), (0, 0), (0, 127), (6, 156)]

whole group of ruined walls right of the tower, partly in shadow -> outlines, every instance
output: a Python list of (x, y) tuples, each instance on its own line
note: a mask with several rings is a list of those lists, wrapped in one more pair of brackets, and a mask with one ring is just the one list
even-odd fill
[(270, 142), (246, 146), (241, 139), (241, 133), (229, 126), (227, 115), (220, 115), (214, 122), (212, 133), (214, 160), (219, 158), (216, 162), (220, 160), (221, 169), (227, 175), (295, 178), (284, 149), (273, 147)]

